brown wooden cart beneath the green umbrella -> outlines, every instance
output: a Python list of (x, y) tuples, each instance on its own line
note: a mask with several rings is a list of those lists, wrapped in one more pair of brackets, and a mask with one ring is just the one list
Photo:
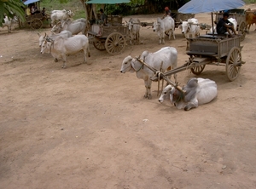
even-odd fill
[(125, 37), (128, 34), (128, 28), (122, 24), (122, 20), (118, 22), (103, 24), (92, 24), (88, 37), (90, 42), (98, 50), (107, 50), (109, 54), (120, 54), (125, 50)]

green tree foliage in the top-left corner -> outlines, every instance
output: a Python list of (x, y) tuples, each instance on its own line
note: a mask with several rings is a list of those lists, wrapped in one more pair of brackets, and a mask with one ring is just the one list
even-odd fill
[(16, 15), (21, 21), (25, 21), (25, 5), (20, 0), (0, 0), (0, 26), (3, 26), (3, 18), (7, 15), (14, 18)]

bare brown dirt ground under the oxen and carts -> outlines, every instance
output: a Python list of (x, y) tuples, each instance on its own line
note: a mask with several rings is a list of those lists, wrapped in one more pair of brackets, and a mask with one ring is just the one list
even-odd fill
[[(195, 18), (211, 24), (210, 14)], [(143, 99), (143, 80), (119, 72), (125, 56), (165, 46), (182, 66), (189, 57), (178, 29), (159, 45), (143, 27), (143, 44), (114, 56), (90, 45), (90, 65), (79, 53), (67, 69), (40, 54), (37, 31), (0, 29), (0, 188), (256, 188), (254, 27), (241, 42), (239, 77), (206, 66), (200, 77), (218, 84), (218, 98), (189, 112), (160, 104), (157, 83)], [(191, 77), (177, 75), (181, 85)]]

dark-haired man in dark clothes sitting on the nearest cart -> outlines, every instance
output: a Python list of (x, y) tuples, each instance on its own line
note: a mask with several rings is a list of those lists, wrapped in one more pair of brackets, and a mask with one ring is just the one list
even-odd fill
[(218, 24), (217, 24), (217, 33), (218, 34), (225, 34), (225, 32), (228, 32), (230, 34), (230, 37), (232, 36), (231, 31), (234, 32), (234, 34), (236, 35), (236, 31), (234, 29), (233, 24), (230, 22), (230, 20), (228, 20), (230, 14), (225, 12), (223, 14), (223, 18), (218, 20)]

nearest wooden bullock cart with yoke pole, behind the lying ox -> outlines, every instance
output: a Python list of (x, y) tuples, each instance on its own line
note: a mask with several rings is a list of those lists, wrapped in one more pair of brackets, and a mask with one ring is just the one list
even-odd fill
[(189, 51), (186, 52), (189, 55), (189, 60), (183, 66), (165, 73), (148, 66), (143, 60), (137, 60), (155, 73), (151, 80), (159, 81), (164, 79), (167, 83), (177, 87), (177, 89), (181, 88), (177, 86), (177, 83), (173, 83), (168, 76), (185, 70), (190, 70), (195, 75), (200, 75), (206, 65), (224, 66), (227, 77), (230, 81), (234, 81), (241, 71), (241, 66), (245, 64), (241, 60), (242, 47), (240, 42), (241, 36), (203, 35), (189, 38)]

